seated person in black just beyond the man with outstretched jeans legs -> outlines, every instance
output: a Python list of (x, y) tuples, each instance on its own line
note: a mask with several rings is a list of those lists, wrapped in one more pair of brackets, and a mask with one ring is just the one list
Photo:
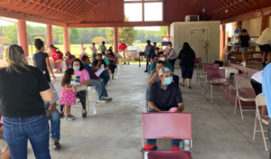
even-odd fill
[[(93, 70), (98, 70), (101, 65), (104, 65), (105, 69), (107, 68), (107, 63), (106, 61), (104, 61), (102, 59), (102, 55), (100, 53), (98, 53), (98, 55), (96, 56), (96, 60), (92, 62), (91, 66)], [(108, 80), (110, 79), (110, 76), (107, 74), (107, 71), (103, 71), (100, 75), (99, 75), (100, 79), (103, 79), (103, 82), (105, 85), (107, 85)]]

